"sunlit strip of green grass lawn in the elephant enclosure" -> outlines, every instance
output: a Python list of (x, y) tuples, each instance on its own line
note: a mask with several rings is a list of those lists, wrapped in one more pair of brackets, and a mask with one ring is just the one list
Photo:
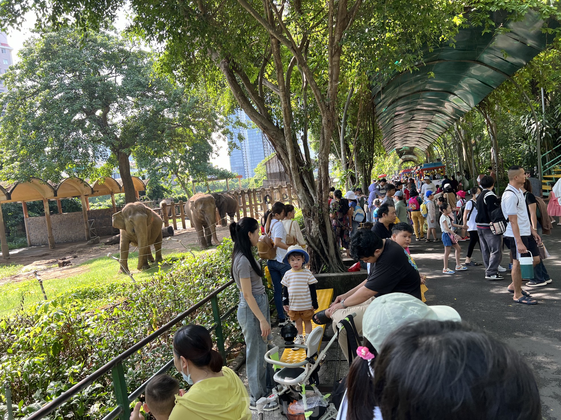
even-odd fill
[[(192, 249), (192, 251), (195, 255), (204, 252), (200, 249)], [(114, 256), (118, 256), (118, 254), (114, 254)], [(164, 254), (163, 256), (164, 259), (193, 258), (191, 253), (183, 253), (180, 251), (172, 251), (171, 253)], [(131, 268), (132, 276), (136, 281), (149, 278), (158, 271), (158, 266), (156, 266), (150, 268), (149, 270), (139, 272), (136, 270), (137, 263), (138, 253), (135, 252), (129, 254), (128, 267)], [(2, 276), (0, 278), (16, 274), (22, 267), (22, 265), (2, 265), (0, 266), (0, 276)], [(45, 277), (42, 277), (42, 279), (47, 298), (50, 299), (61, 294), (69, 293), (76, 288), (96, 286), (117, 281), (118, 279), (128, 279), (126, 274), (118, 273), (119, 263), (108, 256), (102, 256), (100, 258), (86, 261), (82, 264), (76, 265), (75, 268), (76, 267), (79, 268), (80, 271), (68, 273), (68, 277), (66, 278), (49, 279), (48, 276), (52, 276), (52, 274), (45, 273)], [(171, 265), (168, 267), (171, 268)], [(31, 274), (31, 276), (33, 276), (33, 274)], [(43, 294), (41, 292), (39, 282), (34, 277), (25, 281), (2, 284), (2, 286), (0, 286), (0, 318), (15, 311), (15, 309), (21, 305), (21, 302), (23, 302), (24, 306), (28, 306), (40, 300), (43, 300)]]

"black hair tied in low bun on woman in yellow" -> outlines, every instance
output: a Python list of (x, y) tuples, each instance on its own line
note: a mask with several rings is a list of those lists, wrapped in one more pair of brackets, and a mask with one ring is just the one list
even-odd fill
[(220, 372), (224, 363), (220, 353), (213, 348), (210, 333), (202, 325), (184, 325), (173, 336), (173, 351), (196, 367)]

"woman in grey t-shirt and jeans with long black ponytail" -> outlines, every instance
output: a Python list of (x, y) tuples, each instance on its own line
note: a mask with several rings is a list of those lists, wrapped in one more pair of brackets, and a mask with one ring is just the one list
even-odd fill
[[(263, 360), (267, 351), (267, 342), (273, 339), (263, 271), (251, 251), (259, 241), (259, 223), (252, 217), (242, 217), (237, 223), (230, 223), (230, 235), (234, 241), (230, 273), (240, 289), (237, 315), (246, 343), (247, 377), (251, 378), (250, 408), (255, 410), (256, 401), (268, 395), (267, 374), (270, 372), (263, 366)], [(271, 402), (264, 410), (270, 411), (276, 408), (278, 403)]]

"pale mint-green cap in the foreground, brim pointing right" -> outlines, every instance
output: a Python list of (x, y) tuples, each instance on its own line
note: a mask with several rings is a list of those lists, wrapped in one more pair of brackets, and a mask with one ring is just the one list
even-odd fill
[(450, 306), (429, 306), (407, 293), (388, 293), (376, 297), (362, 317), (362, 335), (379, 352), (385, 338), (399, 325), (417, 319), (461, 321)]

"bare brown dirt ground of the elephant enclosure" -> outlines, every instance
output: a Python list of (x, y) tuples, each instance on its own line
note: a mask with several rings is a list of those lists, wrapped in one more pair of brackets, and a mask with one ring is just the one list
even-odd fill
[[(224, 237), (230, 237), (228, 226), (217, 226), (216, 234), (219, 241), (222, 241)], [(65, 242), (63, 244), (56, 244), (55, 249), (49, 249), (47, 245), (42, 245), (11, 250), (10, 259), (3, 260), (2, 262), (6, 264), (22, 264), (24, 268), (21, 269), (20, 274), (0, 279), (0, 285), (29, 279), (33, 277), (34, 270), (40, 270), (42, 279), (72, 276), (75, 272), (83, 271), (83, 268), (76, 267), (77, 265), (94, 258), (99, 258), (100, 256), (105, 256), (108, 253), (116, 254), (119, 252), (118, 244), (103, 244), (109, 237), (111, 236), (100, 237), (100, 243), (95, 245), (88, 245), (86, 241)], [(177, 240), (181, 240), (181, 242)], [(178, 230), (174, 232), (174, 236), (172, 236), (171, 239), (164, 238), (162, 253), (165, 255), (173, 251), (186, 251), (182, 244), (187, 246), (187, 248), (199, 246), (195, 228), (187, 227), (183, 230), (179, 227)], [(134, 250), (134, 248), (131, 247), (131, 251), (132, 250)], [(154, 249), (152, 249), (152, 251), (154, 252)], [(53, 265), (58, 265), (59, 261), (69, 261), (72, 265), (53, 267)]]

